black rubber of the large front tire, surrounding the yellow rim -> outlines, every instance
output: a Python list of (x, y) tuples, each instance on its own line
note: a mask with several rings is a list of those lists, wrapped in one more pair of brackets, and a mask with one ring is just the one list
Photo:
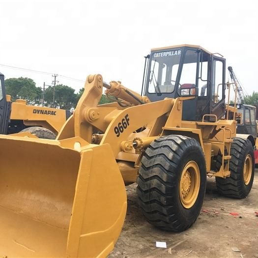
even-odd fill
[[(189, 162), (199, 167), (200, 188), (193, 206), (186, 208), (180, 199), (179, 182)], [(137, 182), (139, 205), (148, 222), (169, 231), (190, 228), (199, 216), (206, 189), (205, 159), (200, 144), (179, 135), (156, 139), (143, 155)]]

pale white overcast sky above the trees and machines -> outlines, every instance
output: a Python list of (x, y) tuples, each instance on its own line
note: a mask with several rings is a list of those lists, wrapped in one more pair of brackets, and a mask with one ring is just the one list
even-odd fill
[[(141, 91), (151, 48), (201, 45), (219, 52), (248, 93), (258, 91), (256, 0), (0, 0), (0, 64), (85, 81), (100, 73)], [(51, 75), (0, 66), (6, 78)], [(227, 77), (228, 78), (228, 75)], [(57, 77), (79, 90), (83, 82)]]

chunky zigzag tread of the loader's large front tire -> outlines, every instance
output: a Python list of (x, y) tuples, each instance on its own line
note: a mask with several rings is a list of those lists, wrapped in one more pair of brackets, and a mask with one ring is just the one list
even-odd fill
[(151, 143), (143, 155), (137, 181), (139, 205), (147, 221), (158, 228), (183, 231), (196, 220), (182, 224), (172, 195), (180, 156), (189, 146), (200, 144), (185, 136), (164, 136)]

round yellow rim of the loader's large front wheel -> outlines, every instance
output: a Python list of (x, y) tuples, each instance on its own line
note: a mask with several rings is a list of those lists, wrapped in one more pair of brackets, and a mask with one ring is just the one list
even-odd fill
[(179, 196), (182, 205), (189, 209), (197, 200), (200, 190), (200, 170), (195, 161), (189, 161), (181, 174)]

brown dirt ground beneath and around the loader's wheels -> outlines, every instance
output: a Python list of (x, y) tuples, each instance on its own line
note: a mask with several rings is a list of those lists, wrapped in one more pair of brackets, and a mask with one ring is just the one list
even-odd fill
[[(138, 207), (136, 184), (126, 190), (126, 220), (109, 258), (258, 258), (258, 169), (253, 189), (243, 200), (220, 196), (214, 178), (208, 178), (201, 214), (192, 228), (181, 233), (151, 226)], [(167, 248), (157, 248), (156, 241), (166, 242)], [(241, 252), (233, 252), (235, 247)]]

